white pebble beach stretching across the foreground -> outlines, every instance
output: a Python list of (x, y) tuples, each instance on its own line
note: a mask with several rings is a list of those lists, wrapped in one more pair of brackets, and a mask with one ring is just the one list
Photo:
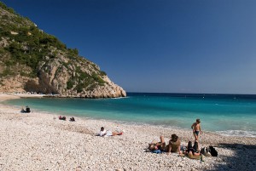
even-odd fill
[[(1, 100), (20, 96), (0, 94)], [(58, 119), (54, 113), (0, 105), (0, 170), (255, 170), (256, 138), (223, 136), (203, 132), (200, 147), (213, 145), (218, 157), (204, 162), (178, 154), (154, 154), (148, 143), (166, 142), (177, 134), (182, 145), (194, 140), (191, 129), (94, 120), (75, 117)], [(193, 123), (193, 121), (191, 121)], [(172, 126), (172, 125), (170, 125)], [(104, 127), (124, 134), (99, 137)]]

